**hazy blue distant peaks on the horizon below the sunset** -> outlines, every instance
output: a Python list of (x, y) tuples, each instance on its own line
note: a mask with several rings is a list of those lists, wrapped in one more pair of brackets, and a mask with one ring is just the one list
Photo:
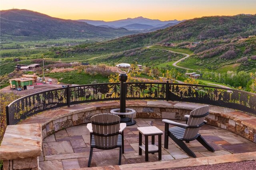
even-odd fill
[(99, 20), (76, 20), (76, 21), (82, 21), (82, 22), (86, 22), (92, 25), (102, 26), (102, 27), (113, 27), (113, 28), (123, 27), (128, 30), (151, 31), (151, 29), (157, 30), (157, 29), (162, 29), (162, 27), (166, 28), (170, 24), (176, 25), (185, 20), (160, 21), (160, 20), (143, 18), (142, 16), (140, 16), (137, 18), (127, 18), (127, 19), (116, 20), (116, 21), (99, 21)]

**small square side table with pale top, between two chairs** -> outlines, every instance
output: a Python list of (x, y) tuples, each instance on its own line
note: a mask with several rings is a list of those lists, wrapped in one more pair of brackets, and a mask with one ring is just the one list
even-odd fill
[[(137, 127), (139, 131), (139, 155), (142, 155), (142, 150), (145, 151), (145, 161), (148, 161), (148, 153), (158, 152), (158, 160), (162, 160), (162, 138), (163, 134), (160, 129), (155, 126)], [(145, 136), (145, 145), (142, 145), (142, 134)], [(155, 136), (158, 135), (158, 146), (155, 145)], [(152, 137), (151, 145), (148, 145), (148, 136)]]

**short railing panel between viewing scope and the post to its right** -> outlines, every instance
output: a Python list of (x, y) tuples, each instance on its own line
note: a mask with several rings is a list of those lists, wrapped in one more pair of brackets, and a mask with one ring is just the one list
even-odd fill
[(166, 100), (166, 83), (127, 82), (128, 100)]

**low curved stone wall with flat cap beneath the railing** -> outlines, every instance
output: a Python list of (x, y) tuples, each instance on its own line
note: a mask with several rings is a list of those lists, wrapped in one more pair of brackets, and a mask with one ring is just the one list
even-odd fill
[[(110, 113), (110, 109), (119, 108), (118, 102), (94, 103), (89, 105), (77, 105), (72, 107), (60, 108), (52, 111), (34, 115), (20, 123), (42, 125), (42, 139), (61, 129), (90, 122), (90, 117), (98, 113)], [(137, 111), (135, 118), (154, 118), (154, 119), (177, 119), (185, 120), (184, 115), (202, 104), (191, 104), (185, 102), (166, 102), (166, 101), (127, 101), (127, 108)], [(209, 125), (227, 129), (250, 141), (256, 143), (256, 117), (228, 109), (225, 107), (210, 106), (210, 114), (206, 117)], [(15, 126), (15, 125), (14, 125)], [(1, 151), (0, 151), (1, 153)], [(29, 159), (29, 158), (27, 158)], [(23, 159), (26, 161), (26, 158)], [(4, 161), (4, 167), (7, 167)], [(10, 161), (9, 161), (10, 162)], [(24, 163), (24, 162), (23, 162)], [(38, 160), (34, 161), (34, 164)], [(9, 164), (10, 166), (10, 164)], [(7, 170), (7, 168), (5, 168)], [(34, 170), (32, 168), (26, 168)], [(38, 168), (40, 169), (40, 168)], [(14, 170), (8, 168), (8, 170)], [(16, 170), (16, 169), (15, 169)]]

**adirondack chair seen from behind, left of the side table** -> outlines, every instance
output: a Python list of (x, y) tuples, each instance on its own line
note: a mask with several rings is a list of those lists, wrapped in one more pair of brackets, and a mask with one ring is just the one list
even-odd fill
[(91, 136), (91, 149), (88, 167), (92, 161), (94, 148), (108, 150), (120, 148), (119, 162), (121, 165), (122, 153), (124, 153), (124, 129), (126, 123), (120, 123), (120, 117), (111, 113), (103, 113), (91, 117), (92, 123), (87, 124)]

